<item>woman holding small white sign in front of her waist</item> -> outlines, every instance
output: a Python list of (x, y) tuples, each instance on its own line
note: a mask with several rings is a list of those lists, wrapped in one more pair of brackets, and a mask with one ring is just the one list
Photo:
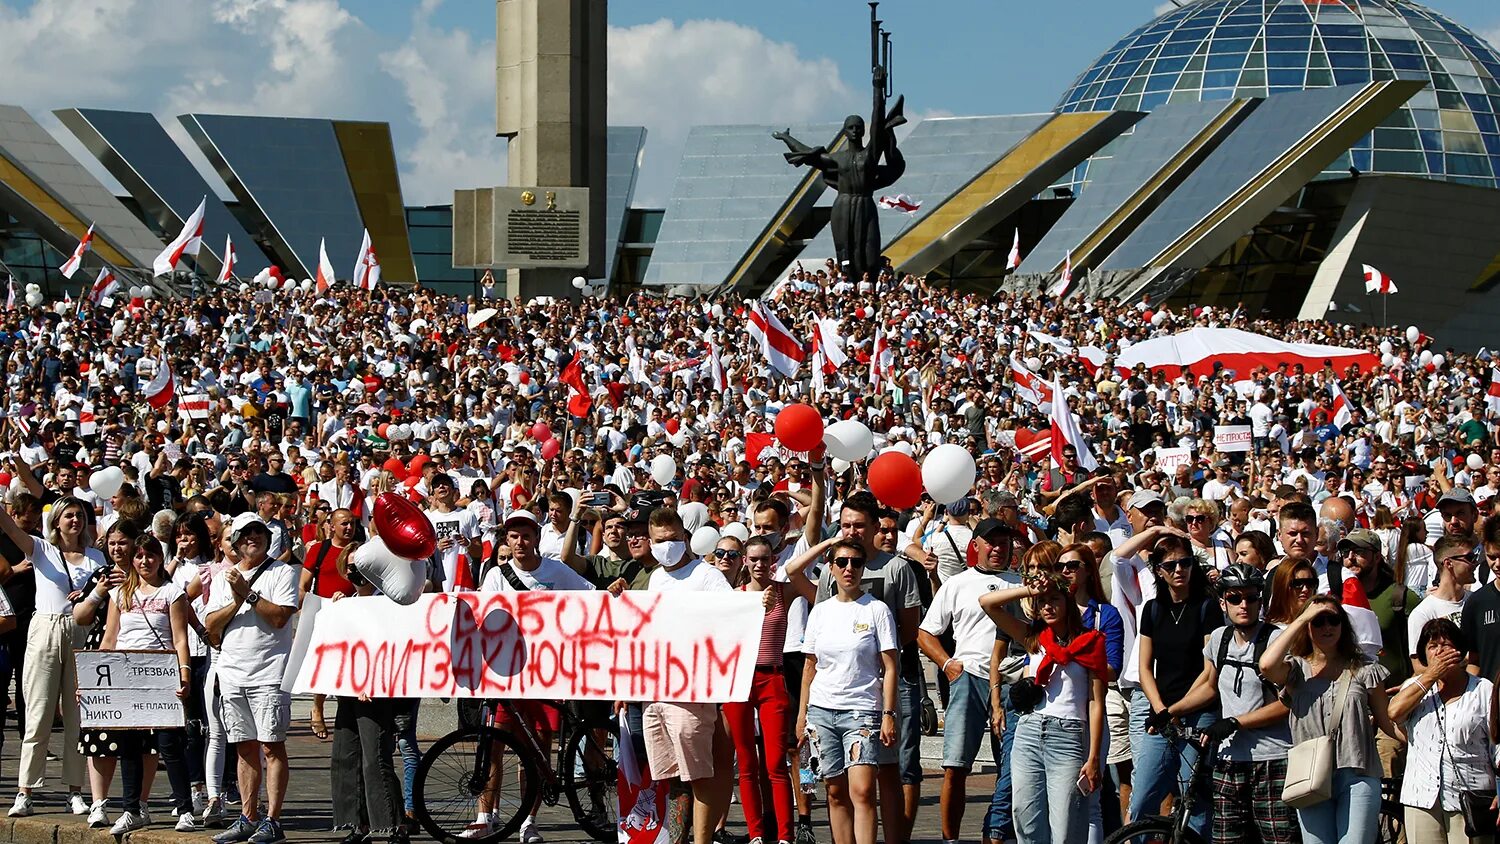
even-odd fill
[[(182, 586), (166, 576), (162, 543), (142, 535), (135, 543), (135, 556), (124, 583), (110, 591), (110, 621), (104, 631), (104, 651), (171, 651), (177, 655), (177, 697), (188, 699), (192, 685), (192, 663), (188, 658), (188, 597)], [(141, 829), (148, 823), (144, 814), (156, 772), (153, 754), (159, 753), (172, 784), (172, 808), (177, 810), (177, 832), (202, 829), (192, 814), (192, 792), (188, 784), (184, 748), (188, 730), (117, 730), (120, 745), (120, 786), (124, 813), (110, 828), (112, 835)]]

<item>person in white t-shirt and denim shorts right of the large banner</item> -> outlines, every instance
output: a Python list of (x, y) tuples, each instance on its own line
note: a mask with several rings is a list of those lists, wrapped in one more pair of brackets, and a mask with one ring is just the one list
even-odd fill
[(874, 844), (876, 735), (885, 747), (896, 744), (896, 619), (861, 586), (864, 546), (838, 541), (828, 564), (837, 591), (813, 607), (802, 633), (798, 750), (812, 738), (834, 844)]

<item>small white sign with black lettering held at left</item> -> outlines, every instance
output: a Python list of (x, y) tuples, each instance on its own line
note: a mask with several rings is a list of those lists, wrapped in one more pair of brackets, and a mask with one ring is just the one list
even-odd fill
[(171, 651), (78, 651), (80, 726), (182, 727), (182, 675)]

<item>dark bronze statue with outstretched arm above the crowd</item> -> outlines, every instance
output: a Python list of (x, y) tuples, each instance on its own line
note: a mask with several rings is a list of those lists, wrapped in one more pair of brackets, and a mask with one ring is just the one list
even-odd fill
[(880, 271), (880, 220), (876, 214), (874, 192), (890, 187), (906, 171), (906, 159), (896, 148), (896, 127), (906, 123), (903, 97), (896, 97), (890, 112), (891, 33), (874, 18), (878, 3), (870, 3), (870, 52), (873, 64), (874, 114), (870, 118), (870, 144), (866, 145), (866, 123), (858, 114), (844, 118), (834, 148), (808, 147), (790, 130), (771, 136), (786, 144), (786, 160), (794, 166), (812, 166), (824, 174), (824, 183), (838, 192), (830, 223), (838, 267), (854, 280)]

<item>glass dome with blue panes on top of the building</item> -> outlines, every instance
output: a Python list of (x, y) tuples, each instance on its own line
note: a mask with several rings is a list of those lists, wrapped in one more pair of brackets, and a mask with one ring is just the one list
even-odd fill
[[(1428, 87), (1326, 172), (1500, 187), (1500, 54), (1408, 0), (1185, 1), (1100, 55), (1058, 111), (1152, 111), (1394, 78)], [(1074, 171), (1076, 187), (1086, 174), (1086, 163)]]

